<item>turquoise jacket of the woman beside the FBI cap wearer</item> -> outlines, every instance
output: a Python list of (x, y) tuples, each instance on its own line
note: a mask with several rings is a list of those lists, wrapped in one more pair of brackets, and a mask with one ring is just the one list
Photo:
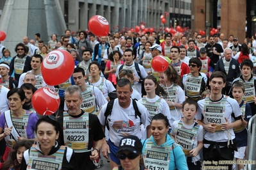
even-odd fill
[[(150, 136), (150, 139), (153, 142), (153, 144), (157, 146), (152, 135)], [(145, 151), (147, 142), (148, 142), (148, 139), (141, 141), (143, 145), (142, 157), (144, 156), (144, 151)], [(187, 160), (185, 158), (185, 154), (182, 151), (182, 147), (176, 144), (175, 141), (173, 141), (173, 139), (168, 134), (166, 134), (166, 143), (161, 144), (158, 147), (162, 147), (166, 145), (169, 145), (171, 147), (171, 156), (170, 156), (171, 159), (169, 162), (169, 170), (175, 170), (176, 168), (178, 170), (186, 170), (186, 169), (188, 170), (189, 168), (187, 167)]]

